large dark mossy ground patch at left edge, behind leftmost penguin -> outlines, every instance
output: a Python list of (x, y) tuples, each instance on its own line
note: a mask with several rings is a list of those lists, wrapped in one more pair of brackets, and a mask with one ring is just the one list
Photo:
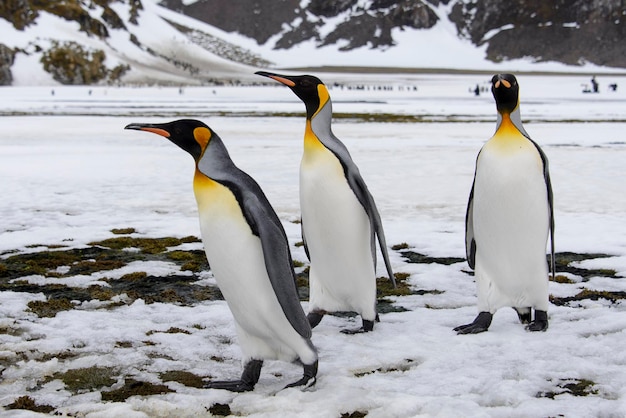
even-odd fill
[[(132, 228), (115, 230), (130, 232)], [(223, 300), (215, 286), (197, 286), (199, 277), (171, 274), (165, 277), (150, 276), (146, 272), (128, 273), (118, 280), (103, 278), (109, 286), (92, 285), (88, 288), (72, 288), (64, 284), (30, 284), (21, 277), (42, 275), (46, 278), (65, 278), (77, 274), (91, 275), (121, 268), (133, 261), (166, 261), (180, 266), (181, 270), (194, 273), (208, 270), (209, 265), (202, 250), (167, 251), (185, 243), (200, 240), (184, 238), (133, 238), (118, 236), (93, 242), (90, 247), (34, 253), (13, 254), (0, 263), (0, 291), (44, 293), (46, 302), (32, 303), (31, 310), (39, 315), (54, 316), (60, 310), (71, 309), (69, 301), (111, 300), (116, 295), (125, 295), (120, 301), (108, 306), (132, 303), (143, 299), (146, 303), (163, 302), (193, 304), (203, 300)], [(129, 248), (135, 249), (129, 251)], [(195, 263), (195, 264), (190, 264)]]

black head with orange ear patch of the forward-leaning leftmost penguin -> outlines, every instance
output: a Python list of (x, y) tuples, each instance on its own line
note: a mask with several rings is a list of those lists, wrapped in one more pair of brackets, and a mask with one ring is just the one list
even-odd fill
[(131, 123), (124, 129), (152, 132), (166, 137), (198, 161), (213, 135), (211, 128), (199, 120), (180, 119), (168, 123)]

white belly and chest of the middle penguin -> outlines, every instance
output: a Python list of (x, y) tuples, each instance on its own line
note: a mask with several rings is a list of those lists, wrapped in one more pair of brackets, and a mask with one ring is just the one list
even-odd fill
[(369, 217), (350, 188), (341, 163), (321, 144), (305, 148), (300, 206), (311, 257), (312, 308), (375, 315)]

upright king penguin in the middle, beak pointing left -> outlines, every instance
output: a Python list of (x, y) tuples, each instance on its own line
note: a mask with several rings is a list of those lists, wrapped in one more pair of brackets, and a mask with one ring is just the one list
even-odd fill
[(352, 311), (361, 316), (362, 327), (342, 332), (372, 331), (378, 320), (376, 237), (394, 286), (395, 279), (374, 198), (348, 149), (331, 130), (328, 89), (311, 75), (256, 74), (288, 86), (306, 106), (300, 210), (311, 262), (309, 323), (315, 327), (328, 312)]

